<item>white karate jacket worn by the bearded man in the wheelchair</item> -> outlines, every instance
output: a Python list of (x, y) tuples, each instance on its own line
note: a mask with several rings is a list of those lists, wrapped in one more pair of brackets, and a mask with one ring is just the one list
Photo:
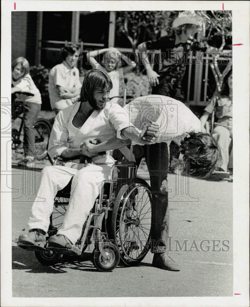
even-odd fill
[[(101, 142), (114, 135), (124, 139), (120, 131), (129, 126), (134, 126), (129, 121), (127, 112), (117, 103), (107, 102), (104, 109), (94, 110), (83, 126), (78, 129), (72, 120), (80, 107), (80, 102), (61, 110), (55, 118), (50, 134), (48, 153), (53, 159), (61, 155), (67, 148), (80, 148), (87, 139), (98, 138)], [(93, 158), (92, 160), (95, 162)], [(106, 161), (104, 161), (106, 162)]]

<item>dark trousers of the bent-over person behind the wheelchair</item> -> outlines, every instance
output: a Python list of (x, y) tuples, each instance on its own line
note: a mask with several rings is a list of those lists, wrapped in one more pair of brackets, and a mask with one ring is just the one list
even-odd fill
[(167, 199), (167, 171), (169, 159), (167, 143), (144, 146), (135, 145), (133, 147), (133, 153), (138, 166), (142, 157), (145, 157), (150, 175), (152, 192), (151, 252), (164, 252), (168, 250), (169, 231), (169, 209)]

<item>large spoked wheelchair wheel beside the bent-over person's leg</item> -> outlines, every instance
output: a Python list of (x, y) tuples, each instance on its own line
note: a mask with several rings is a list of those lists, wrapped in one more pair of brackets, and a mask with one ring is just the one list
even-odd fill
[(127, 266), (139, 264), (150, 249), (151, 203), (150, 187), (139, 178), (124, 183), (117, 194), (111, 232)]

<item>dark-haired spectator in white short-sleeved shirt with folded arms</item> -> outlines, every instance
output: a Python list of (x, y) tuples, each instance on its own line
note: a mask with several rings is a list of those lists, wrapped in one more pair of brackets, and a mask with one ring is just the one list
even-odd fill
[(49, 73), (51, 109), (58, 112), (79, 99), (82, 84), (79, 70), (75, 67), (80, 50), (75, 44), (66, 44), (61, 51), (63, 63), (54, 66)]

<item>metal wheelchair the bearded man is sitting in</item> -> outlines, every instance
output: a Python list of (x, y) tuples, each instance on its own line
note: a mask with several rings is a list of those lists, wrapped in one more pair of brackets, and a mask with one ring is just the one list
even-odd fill
[[(62, 161), (57, 157), (54, 165)], [(18, 243), (18, 246), (34, 251), (37, 260), (48, 266), (56, 264), (63, 255), (80, 256), (91, 243), (95, 245), (92, 262), (99, 271), (112, 271), (119, 262), (125, 266), (138, 265), (150, 250), (152, 196), (150, 186), (136, 178), (136, 172), (135, 162), (115, 162), (111, 179), (102, 182), (100, 194), (75, 245), (67, 243), (62, 249), (50, 247), (46, 241), (32, 246)], [(54, 198), (46, 239), (55, 235), (63, 224), (72, 179)]]

